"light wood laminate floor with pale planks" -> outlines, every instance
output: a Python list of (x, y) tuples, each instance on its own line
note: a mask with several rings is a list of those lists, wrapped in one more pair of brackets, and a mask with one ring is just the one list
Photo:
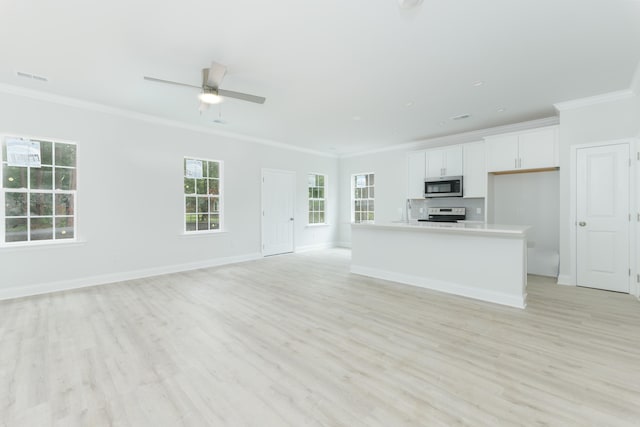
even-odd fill
[(634, 297), (532, 276), (519, 310), (349, 257), (0, 302), (0, 425), (640, 425)]

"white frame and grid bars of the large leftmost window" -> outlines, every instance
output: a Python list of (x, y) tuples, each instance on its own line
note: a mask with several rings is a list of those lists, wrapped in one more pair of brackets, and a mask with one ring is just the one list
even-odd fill
[[(22, 139), (28, 141), (37, 141), (40, 143), (46, 142), (51, 144), (51, 164), (43, 164), (45, 167), (51, 168), (51, 189), (41, 189), (41, 188), (31, 188), (31, 166), (26, 166), (27, 175), (26, 182), (27, 188), (8, 188), (4, 185), (4, 168), (5, 168), (5, 160), (4, 153), (6, 152), (6, 141), (7, 139)], [(56, 165), (56, 144), (65, 144), (65, 145), (73, 145), (75, 147), (75, 159), (74, 166), (63, 166)], [(2, 204), (2, 213), (0, 215), (0, 247), (2, 248), (15, 248), (15, 247), (37, 247), (44, 245), (69, 245), (69, 244), (77, 244), (80, 242), (78, 238), (78, 186), (79, 186), (79, 168), (78, 168), (78, 158), (79, 158), (79, 144), (75, 141), (69, 141), (65, 139), (59, 138), (49, 138), (49, 137), (39, 137), (39, 136), (28, 136), (28, 135), (14, 135), (14, 134), (1, 134), (0, 135), (0, 179), (2, 180), (2, 185), (0, 185), (0, 204)], [(42, 153), (42, 151), (41, 151)], [(6, 161), (8, 166), (8, 159)], [(75, 188), (70, 190), (56, 189), (56, 169), (69, 169), (74, 171), (74, 181)], [(40, 168), (34, 168), (40, 169)], [(26, 194), (26, 215), (10, 215), (9, 218), (24, 218), (27, 222), (27, 240), (18, 240), (18, 241), (7, 241), (6, 236), (6, 222), (7, 222), (7, 212), (6, 212), (6, 195), (7, 193), (23, 193)], [(32, 215), (31, 214), (31, 194), (51, 194), (52, 195), (52, 206), (51, 206), (51, 214), (50, 215)], [(56, 196), (57, 195), (72, 195), (73, 196), (73, 205), (71, 215), (63, 215), (56, 213)], [(50, 239), (36, 239), (32, 240), (31, 236), (31, 221), (32, 219), (37, 218), (51, 218), (52, 226), (52, 235)], [(70, 238), (59, 238), (56, 233), (56, 220), (58, 218), (71, 218), (73, 221), (73, 237)]]

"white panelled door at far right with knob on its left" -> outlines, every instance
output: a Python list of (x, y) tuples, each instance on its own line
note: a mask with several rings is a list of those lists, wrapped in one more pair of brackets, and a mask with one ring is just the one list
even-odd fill
[(629, 292), (629, 144), (577, 150), (577, 284)]

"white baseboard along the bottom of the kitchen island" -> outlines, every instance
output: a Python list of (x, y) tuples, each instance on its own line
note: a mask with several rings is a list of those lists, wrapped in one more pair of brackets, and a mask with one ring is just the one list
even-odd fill
[(525, 308), (527, 306), (526, 293), (522, 297), (517, 297), (500, 292), (471, 288), (469, 286), (446, 282), (444, 280), (436, 280), (426, 277), (394, 273), (392, 271), (379, 270), (376, 268), (363, 267), (359, 265), (352, 265), (351, 272), (363, 276), (375, 277), (376, 279), (390, 280), (392, 282), (398, 282), (405, 285), (418, 286), (434, 291), (445, 292), (448, 294), (459, 295), (501, 305), (507, 305), (515, 308)]

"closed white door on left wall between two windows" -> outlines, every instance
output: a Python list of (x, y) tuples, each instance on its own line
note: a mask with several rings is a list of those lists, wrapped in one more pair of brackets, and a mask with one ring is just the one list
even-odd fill
[(295, 172), (262, 170), (262, 255), (293, 252)]

